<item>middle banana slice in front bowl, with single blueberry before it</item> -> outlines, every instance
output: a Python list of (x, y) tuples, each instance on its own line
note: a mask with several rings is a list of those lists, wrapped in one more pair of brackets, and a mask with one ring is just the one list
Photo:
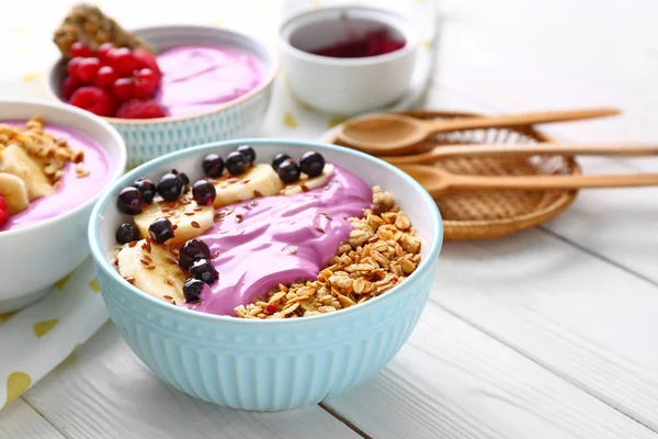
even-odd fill
[(182, 246), (188, 240), (213, 227), (215, 210), (213, 206), (200, 206), (189, 194), (178, 201), (154, 201), (136, 215), (135, 225), (141, 236), (148, 236), (148, 227), (159, 217), (167, 217), (174, 226), (173, 238), (166, 244)]

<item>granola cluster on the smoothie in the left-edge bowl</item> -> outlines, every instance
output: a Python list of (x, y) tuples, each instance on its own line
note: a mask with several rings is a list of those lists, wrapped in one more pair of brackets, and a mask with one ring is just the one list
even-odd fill
[(55, 188), (59, 184), (59, 179), (68, 162), (77, 164), (76, 175), (78, 178), (89, 176), (89, 171), (82, 165), (84, 153), (72, 150), (66, 139), (56, 138), (46, 133), (44, 120), (41, 116), (33, 116), (25, 126), (20, 127), (0, 124), (0, 156), (11, 145), (21, 147), (35, 159)]

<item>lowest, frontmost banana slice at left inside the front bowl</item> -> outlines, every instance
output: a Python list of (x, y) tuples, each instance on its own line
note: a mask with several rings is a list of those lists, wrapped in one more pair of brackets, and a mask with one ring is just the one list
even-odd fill
[(133, 247), (123, 246), (116, 259), (118, 273), (139, 290), (169, 303), (185, 303), (185, 273), (179, 267), (177, 256), (166, 246), (141, 239)]

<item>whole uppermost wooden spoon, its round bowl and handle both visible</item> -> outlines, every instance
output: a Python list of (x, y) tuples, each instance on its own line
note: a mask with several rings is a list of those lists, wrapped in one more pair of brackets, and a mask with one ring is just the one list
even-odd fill
[(423, 121), (401, 114), (374, 114), (347, 121), (337, 134), (337, 139), (345, 146), (372, 155), (395, 156), (410, 154), (416, 144), (436, 133), (575, 121), (619, 113), (617, 109), (602, 108), (445, 121)]

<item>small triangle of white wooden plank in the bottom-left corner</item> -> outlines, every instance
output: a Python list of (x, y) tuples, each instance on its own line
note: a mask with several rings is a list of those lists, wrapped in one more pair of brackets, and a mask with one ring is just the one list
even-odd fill
[(64, 438), (52, 425), (23, 399), (14, 399), (0, 412), (2, 439), (57, 439)]

